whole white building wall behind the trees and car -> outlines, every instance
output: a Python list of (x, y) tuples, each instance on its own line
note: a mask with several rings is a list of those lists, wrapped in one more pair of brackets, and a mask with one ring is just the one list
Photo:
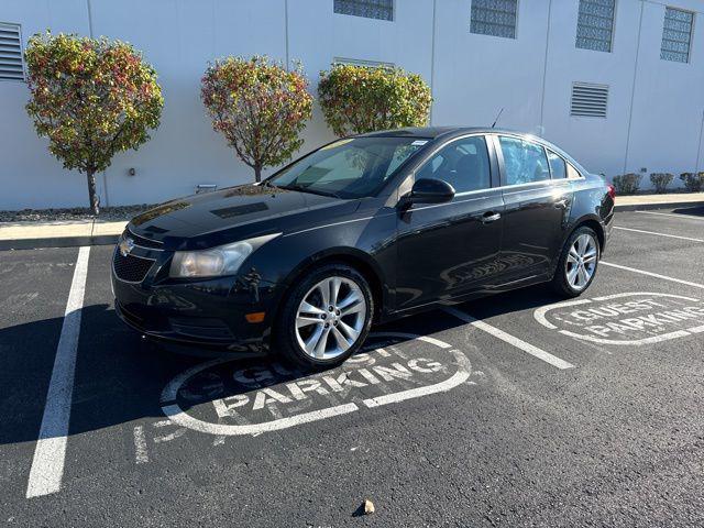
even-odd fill
[[(396, 0), (393, 22), (334, 14), (332, 3), (2, 0), (0, 22), (21, 24), (25, 43), (46, 28), (128, 41), (157, 69), (162, 124), (100, 176), (103, 205), (252, 179), (200, 102), (207, 63), (224, 55), (299, 59), (312, 94), (336, 58), (393, 63), (431, 84), (432, 124), (488, 125), (504, 108), (498, 125), (539, 133), (609, 177), (704, 169), (702, 0), (669, 3), (696, 11), (690, 64), (660, 59), (664, 3), (656, 0), (617, 0), (612, 53), (575, 47), (578, 0), (519, 0), (516, 40), (470, 33), (471, 0)], [(609, 86), (606, 119), (570, 117), (574, 81)], [(23, 82), (0, 81), (0, 209), (87, 205), (85, 177), (63, 169), (36, 138), (28, 95)], [(304, 150), (331, 138), (316, 106)]]

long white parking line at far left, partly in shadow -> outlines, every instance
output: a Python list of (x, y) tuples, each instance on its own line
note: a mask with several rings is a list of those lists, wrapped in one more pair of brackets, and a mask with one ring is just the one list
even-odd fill
[(26, 498), (55, 493), (62, 487), (89, 253), (90, 248), (78, 250), (64, 324), (56, 348), (54, 371), (46, 394), (42, 427), (30, 470)]

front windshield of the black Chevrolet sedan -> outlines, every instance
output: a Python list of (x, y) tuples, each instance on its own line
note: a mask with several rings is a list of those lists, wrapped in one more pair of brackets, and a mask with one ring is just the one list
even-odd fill
[(294, 163), (266, 185), (338, 198), (373, 196), (428, 141), (393, 136), (340, 140)]

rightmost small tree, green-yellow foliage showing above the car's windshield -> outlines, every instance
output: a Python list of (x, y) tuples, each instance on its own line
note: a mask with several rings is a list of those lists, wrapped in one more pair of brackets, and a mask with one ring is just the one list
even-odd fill
[(320, 106), (338, 136), (428, 123), (432, 96), (417, 74), (333, 64), (320, 77)]

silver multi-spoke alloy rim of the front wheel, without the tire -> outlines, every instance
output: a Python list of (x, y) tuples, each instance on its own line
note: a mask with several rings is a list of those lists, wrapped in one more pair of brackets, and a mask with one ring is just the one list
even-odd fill
[(366, 310), (362, 288), (354, 280), (340, 276), (324, 278), (298, 305), (298, 344), (316, 360), (338, 358), (360, 338)]

